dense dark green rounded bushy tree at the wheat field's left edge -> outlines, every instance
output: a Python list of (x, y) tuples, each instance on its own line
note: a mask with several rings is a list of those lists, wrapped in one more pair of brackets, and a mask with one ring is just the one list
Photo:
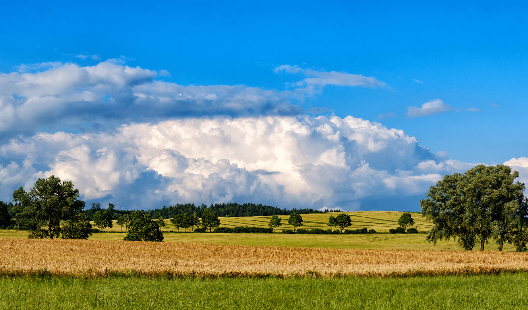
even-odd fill
[(134, 211), (129, 214), (127, 236), (128, 241), (163, 241), (163, 233), (159, 230), (157, 221), (145, 211)]

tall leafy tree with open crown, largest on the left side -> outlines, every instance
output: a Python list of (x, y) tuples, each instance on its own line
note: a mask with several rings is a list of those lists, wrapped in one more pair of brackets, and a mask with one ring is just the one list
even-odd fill
[(78, 198), (79, 190), (71, 181), (54, 175), (37, 180), (29, 192), (22, 186), (13, 192), (13, 201), (20, 202), (15, 204), (16, 211), (36, 223), (37, 236), (51, 239), (59, 234), (62, 220), (69, 220), (84, 208), (84, 201)]

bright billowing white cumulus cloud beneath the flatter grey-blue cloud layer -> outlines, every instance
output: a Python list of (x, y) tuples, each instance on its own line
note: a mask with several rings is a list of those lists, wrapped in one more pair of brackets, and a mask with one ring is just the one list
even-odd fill
[(39, 133), (4, 144), (0, 156), (4, 199), (55, 174), (87, 201), (142, 209), (230, 201), (412, 209), (442, 173), (456, 170), (402, 130), (351, 116), (185, 118), (98, 134)]

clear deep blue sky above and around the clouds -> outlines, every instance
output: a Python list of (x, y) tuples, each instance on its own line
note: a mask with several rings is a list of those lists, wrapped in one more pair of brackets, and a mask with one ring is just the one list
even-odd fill
[[(307, 72), (361, 74), (378, 86), (325, 84), (290, 100), (311, 116), (350, 115), (402, 129), (431, 153), (447, 151), (464, 163), (527, 155), (528, 21), (521, 2), (39, 1), (3, 8), (4, 73), (21, 71), (22, 64), (86, 67), (120, 59), (180, 86), (279, 92), (293, 91)], [(280, 65), (302, 70), (275, 70)], [(437, 113), (410, 117), (409, 107), (436, 99)], [(40, 130), (83, 131), (71, 123)]]

